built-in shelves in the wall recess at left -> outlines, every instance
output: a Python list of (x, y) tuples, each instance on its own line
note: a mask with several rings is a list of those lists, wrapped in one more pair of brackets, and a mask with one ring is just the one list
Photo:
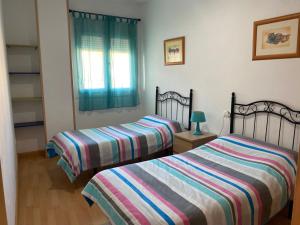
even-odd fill
[(18, 153), (45, 148), (43, 95), (37, 45), (7, 44)]

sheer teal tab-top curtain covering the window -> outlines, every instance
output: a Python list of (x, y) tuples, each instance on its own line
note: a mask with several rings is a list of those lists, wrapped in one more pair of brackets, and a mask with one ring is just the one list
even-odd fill
[(137, 20), (74, 11), (70, 14), (79, 110), (137, 106)]

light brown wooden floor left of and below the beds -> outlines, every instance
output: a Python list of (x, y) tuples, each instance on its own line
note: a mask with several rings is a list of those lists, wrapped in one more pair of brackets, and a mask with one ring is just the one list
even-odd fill
[[(80, 194), (91, 178), (85, 173), (71, 184), (56, 165), (57, 158), (43, 156), (19, 159), (19, 225), (102, 225), (107, 219)], [(286, 210), (268, 225), (290, 225)]]

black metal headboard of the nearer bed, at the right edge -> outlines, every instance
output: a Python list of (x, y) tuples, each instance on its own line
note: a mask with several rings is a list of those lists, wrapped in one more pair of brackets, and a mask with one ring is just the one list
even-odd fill
[[(254, 117), (253, 124), (253, 138), (255, 138), (255, 132), (257, 127), (257, 115), (258, 114), (266, 114), (266, 128), (265, 128), (265, 142), (267, 141), (268, 128), (270, 123), (270, 115), (275, 115), (279, 118), (279, 126), (278, 126), (278, 143), (280, 144), (280, 137), (282, 135), (282, 123), (283, 120), (288, 121), (293, 126), (293, 135), (292, 135), (292, 149), (295, 147), (295, 136), (297, 126), (300, 125), (300, 111), (296, 111), (291, 109), (290, 107), (275, 101), (269, 100), (261, 100), (255, 101), (248, 104), (240, 104), (236, 103), (236, 95), (233, 92), (231, 96), (231, 114), (230, 114), (230, 133), (235, 132), (235, 119), (236, 116), (240, 116), (242, 118), (242, 135), (245, 132), (245, 119), (247, 117)], [(272, 130), (272, 132), (276, 132)]]

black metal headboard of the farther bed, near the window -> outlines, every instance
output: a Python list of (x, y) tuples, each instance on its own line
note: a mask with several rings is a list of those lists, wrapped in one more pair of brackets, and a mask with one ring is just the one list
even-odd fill
[[(181, 122), (182, 124), (188, 124), (188, 127), (186, 129), (191, 130), (190, 118), (192, 115), (192, 107), (193, 107), (192, 89), (190, 89), (189, 97), (184, 97), (175, 91), (167, 91), (165, 93), (160, 94), (159, 87), (156, 87), (156, 97), (155, 97), (156, 115), (160, 115), (172, 120), (174, 119), (178, 122)], [(187, 113), (185, 113), (186, 109), (188, 109)]]

